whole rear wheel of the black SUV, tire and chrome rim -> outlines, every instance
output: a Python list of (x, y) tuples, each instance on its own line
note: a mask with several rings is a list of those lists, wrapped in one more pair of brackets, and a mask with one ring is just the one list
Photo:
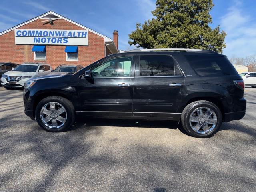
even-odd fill
[(181, 123), (191, 136), (209, 137), (213, 136), (220, 128), (222, 113), (212, 102), (196, 101), (184, 108)]

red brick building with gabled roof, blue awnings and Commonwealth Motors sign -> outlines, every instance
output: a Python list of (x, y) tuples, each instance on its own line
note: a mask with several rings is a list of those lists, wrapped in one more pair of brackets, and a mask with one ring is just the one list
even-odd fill
[(0, 33), (0, 61), (40, 62), (87, 66), (118, 53), (118, 32), (113, 39), (49, 11)]

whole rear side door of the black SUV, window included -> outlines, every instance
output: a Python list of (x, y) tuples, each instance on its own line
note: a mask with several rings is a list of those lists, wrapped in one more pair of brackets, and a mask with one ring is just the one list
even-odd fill
[(134, 116), (173, 118), (184, 88), (184, 76), (170, 56), (140, 56), (134, 80)]

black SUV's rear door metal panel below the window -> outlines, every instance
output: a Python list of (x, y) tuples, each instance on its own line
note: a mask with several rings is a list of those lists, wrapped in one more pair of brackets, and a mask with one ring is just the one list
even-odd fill
[[(175, 83), (180, 85), (171, 85)], [(135, 78), (134, 116), (174, 116), (182, 98), (183, 87), (183, 76)]]

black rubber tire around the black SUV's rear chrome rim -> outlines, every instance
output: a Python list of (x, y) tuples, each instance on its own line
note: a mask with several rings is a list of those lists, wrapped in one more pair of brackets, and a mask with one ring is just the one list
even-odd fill
[[(190, 126), (190, 115), (196, 108), (199, 108), (199, 107), (208, 107), (208, 108), (212, 109), (217, 116), (216, 126), (211, 132), (201, 134), (201, 133), (198, 133), (195, 130), (193, 130), (192, 127)], [(181, 124), (182, 124), (184, 130), (186, 130), (186, 132), (190, 136), (199, 137), (199, 138), (207, 138), (207, 137), (213, 136), (220, 128), (220, 126), (222, 124), (222, 113), (221, 113), (220, 109), (218, 108), (218, 106), (216, 106), (212, 102), (204, 101), (204, 100), (195, 101), (195, 102), (188, 104), (184, 108), (184, 110), (181, 114)]]

